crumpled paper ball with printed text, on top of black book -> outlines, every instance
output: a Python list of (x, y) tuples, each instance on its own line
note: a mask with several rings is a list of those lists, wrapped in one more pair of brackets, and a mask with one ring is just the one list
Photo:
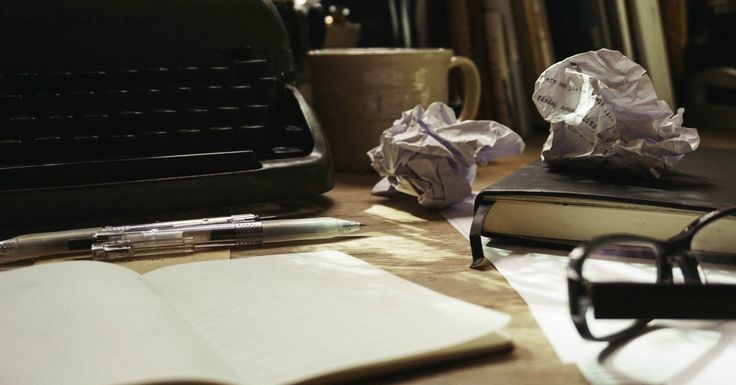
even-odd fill
[(551, 166), (659, 177), (700, 142), (657, 95), (646, 70), (618, 51), (581, 53), (553, 64), (533, 101), (550, 122), (542, 159)]

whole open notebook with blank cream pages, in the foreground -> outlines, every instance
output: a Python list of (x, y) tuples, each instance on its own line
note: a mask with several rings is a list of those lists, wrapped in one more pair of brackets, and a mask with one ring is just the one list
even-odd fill
[(506, 314), (339, 252), (0, 273), (0, 383), (329, 383), (508, 350)]

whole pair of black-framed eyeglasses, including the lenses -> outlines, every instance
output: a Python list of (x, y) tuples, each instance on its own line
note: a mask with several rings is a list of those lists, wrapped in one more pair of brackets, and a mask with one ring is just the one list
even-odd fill
[(735, 319), (734, 215), (710, 212), (666, 241), (614, 234), (575, 248), (567, 285), (580, 335), (616, 341), (653, 319)]

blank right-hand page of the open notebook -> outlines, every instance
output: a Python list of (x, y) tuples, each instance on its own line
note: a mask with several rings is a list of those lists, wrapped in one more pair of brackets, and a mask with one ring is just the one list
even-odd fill
[(293, 383), (446, 348), (509, 321), (339, 252), (177, 265), (146, 278), (244, 384)]

